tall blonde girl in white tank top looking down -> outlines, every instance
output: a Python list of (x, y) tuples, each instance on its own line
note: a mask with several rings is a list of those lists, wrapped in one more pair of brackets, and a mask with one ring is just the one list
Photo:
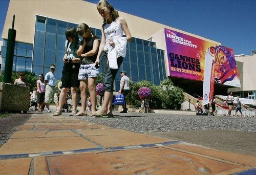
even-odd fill
[[(123, 17), (119, 17), (118, 12), (105, 0), (99, 1), (97, 5), (97, 10), (101, 17), (103, 17), (103, 25), (101, 29), (101, 42), (99, 46), (99, 52), (97, 55), (97, 59), (95, 61), (95, 64), (99, 64), (99, 58), (101, 53), (104, 51), (104, 54), (107, 52), (108, 47), (115, 47), (115, 43), (113, 42), (113, 39), (117, 39), (122, 37), (123, 32), (126, 35), (127, 42), (130, 42), (132, 40), (131, 32), (127, 26), (126, 20)], [(103, 54), (103, 56), (105, 56)], [(120, 58), (120, 57), (119, 57)], [(119, 62), (119, 67), (122, 63), (122, 57)], [(118, 67), (118, 68), (119, 68)], [(111, 106), (112, 106), (112, 95), (113, 92), (110, 90), (110, 87), (113, 87), (114, 79), (116, 76), (117, 70), (112, 69), (105, 69), (102, 67), (102, 71), (105, 75), (103, 76), (103, 82), (105, 87), (105, 93), (104, 93), (104, 101), (100, 108), (100, 110), (96, 111), (95, 113), (91, 113), (91, 116), (94, 117), (108, 117), (113, 116)], [(114, 72), (114, 73), (113, 73)], [(107, 88), (107, 90), (106, 90)]]

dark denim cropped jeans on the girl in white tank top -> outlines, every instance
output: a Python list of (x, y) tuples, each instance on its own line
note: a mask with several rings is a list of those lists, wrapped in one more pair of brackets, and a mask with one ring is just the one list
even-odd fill
[(117, 58), (117, 69), (110, 69), (109, 61), (108, 61), (108, 52), (104, 51), (101, 57), (102, 64), (102, 75), (103, 75), (103, 84), (106, 92), (113, 92), (114, 89), (114, 81), (116, 78), (116, 74), (120, 65), (123, 62), (123, 57)]

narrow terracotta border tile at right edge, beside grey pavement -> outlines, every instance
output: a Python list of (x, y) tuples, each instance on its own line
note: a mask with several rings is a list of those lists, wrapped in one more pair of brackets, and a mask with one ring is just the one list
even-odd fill
[(187, 145), (187, 144), (176, 144), (176, 145), (167, 145), (167, 146), (195, 152), (197, 154), (201, 154), (205, 156), (227, 160), (230, 162), (239, 163), (241, 165), (249, 165), (252, 167), (256, 166), (256, 157), (254, 156), (236, 154), (233, 152), (225, 152), (225, 151), (211, 149), (203, 146), (194, 146), (194, 145)]

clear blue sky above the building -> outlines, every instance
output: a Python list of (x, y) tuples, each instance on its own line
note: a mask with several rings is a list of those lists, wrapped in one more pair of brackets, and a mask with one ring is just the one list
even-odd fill
[[(98, 0), (86, 1), (98, 3)], [(221, 42), (236, 55), (249, 55), (256, 50), (256, 1), (109, 0), (109, 3), (119, 11)], [(1, 36), (8, 4), (8, 0), (0, 0)]]

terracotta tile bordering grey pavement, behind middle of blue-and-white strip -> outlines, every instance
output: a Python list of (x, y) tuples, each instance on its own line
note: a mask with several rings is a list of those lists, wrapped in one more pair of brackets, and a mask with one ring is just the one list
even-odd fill
[(77, 129), (77, 132), (104, 147), (130, 146), (170, 141), (170, 139), (132, 133), (127, 130), (116, 128), (87, 130)]

